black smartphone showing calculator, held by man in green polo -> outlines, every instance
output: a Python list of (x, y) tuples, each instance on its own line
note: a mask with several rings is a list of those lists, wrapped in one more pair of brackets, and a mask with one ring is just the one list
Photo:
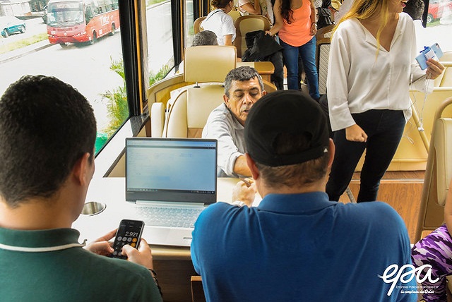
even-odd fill
[(144, 222), (140, 220), (121, 220), (116, 236), (114, 236), (114, 251), (111, 257), (126, 259), (127, 257), (121, 254), (122, 247), (129, 244), (129, 246), (132, 246), (133, 248), (138, 248), (141, 240), (141, 234), (143, 234), (143, 228)]

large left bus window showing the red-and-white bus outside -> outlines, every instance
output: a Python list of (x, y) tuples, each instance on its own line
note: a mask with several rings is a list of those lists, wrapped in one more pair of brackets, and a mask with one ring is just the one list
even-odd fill
[[(25, 33), (2, 38), (0, 95), (27, 74), (53, 75), (71, 84), (93, 106), (98, 151), (129, 118), (129, 109), (121, 35), (114, 35), (120, 29), (119, 11), (96, 16), (93, 2), (50, 0), (47, 24), (42, 18), (27, 19)], [(97, 38), (109, 36), (90, 45), (93, 33)]]

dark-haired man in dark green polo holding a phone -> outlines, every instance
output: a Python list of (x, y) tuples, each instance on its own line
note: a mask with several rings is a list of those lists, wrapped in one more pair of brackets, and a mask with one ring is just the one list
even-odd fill
[(0, 301), (162, 301), (144, 240), (119, 260), (104, 256), (114, 231), (85, 249), (71, 229), (95, 138), (90, 104), (57, 78), (25, 76), (0, 98)]

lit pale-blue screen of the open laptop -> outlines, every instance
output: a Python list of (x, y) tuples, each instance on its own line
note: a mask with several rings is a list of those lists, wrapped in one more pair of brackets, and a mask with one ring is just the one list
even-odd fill
[(217, 140), (126, 138), (126, 200), (215, 203)]

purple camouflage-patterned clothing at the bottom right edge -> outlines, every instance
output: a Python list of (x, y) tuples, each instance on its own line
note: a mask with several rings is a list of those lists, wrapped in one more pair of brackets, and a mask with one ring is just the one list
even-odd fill
[[(411, 250), (412, 264), (415, 267), (432, 265), (432, 280), (427, 278), (422, 282), (423, 298), (427, 302), (447, 301), (446, 277), (452, 274), (452, 238), (446, 224), (436, 229), (429, 236), (421, 239)], [(427, 268), (422, 270), (421, 279), (427, 273)]]

